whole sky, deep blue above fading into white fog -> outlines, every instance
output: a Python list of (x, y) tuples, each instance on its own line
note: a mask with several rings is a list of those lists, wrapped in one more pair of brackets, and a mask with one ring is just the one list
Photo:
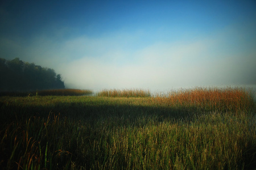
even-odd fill
[(256, 87), (254, 0), (4, 0), (0, 25), (0, 58), (66, 88)]

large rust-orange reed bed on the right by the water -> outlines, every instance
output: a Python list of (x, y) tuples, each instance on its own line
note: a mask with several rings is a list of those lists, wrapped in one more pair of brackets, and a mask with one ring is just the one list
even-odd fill
[(156, 95), (156, 103), (171, 107), (196, 108), (197, 111), (250, 112), (254, 109), (254, 94), (242, 87), (193, 88), (168, 92), (165, 96)]

